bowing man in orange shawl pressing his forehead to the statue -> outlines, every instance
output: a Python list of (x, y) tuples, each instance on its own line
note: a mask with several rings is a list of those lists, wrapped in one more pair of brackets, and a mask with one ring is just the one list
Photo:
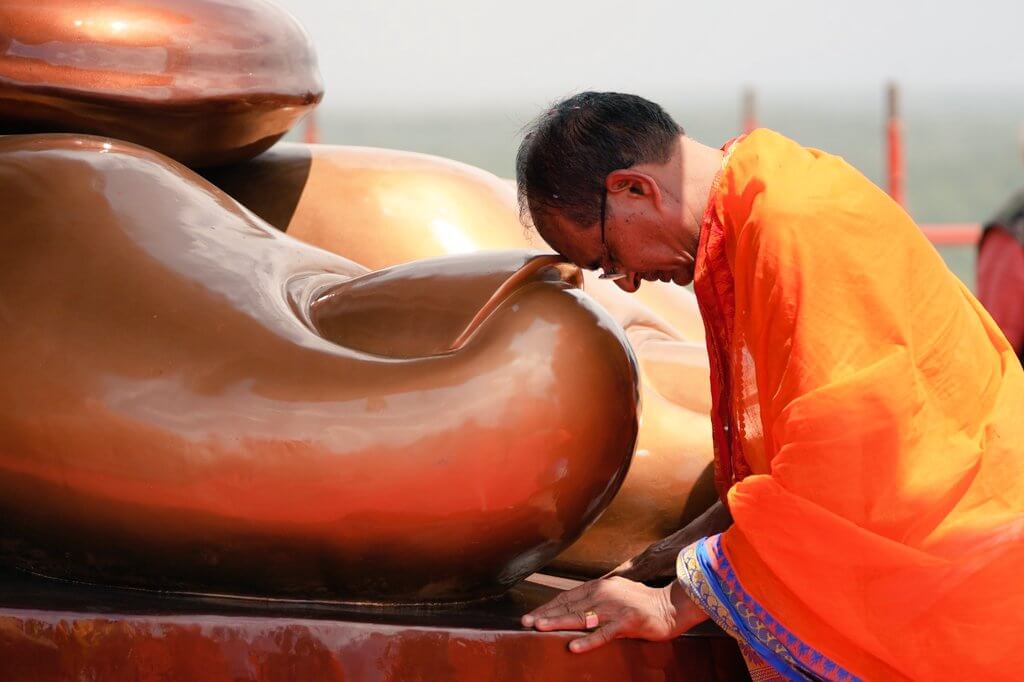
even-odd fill
[[(543, 115), (517, 171), (568, 259), (693, 281), (725, 502), (523, 624), (586, 651), (710, 616), (755, 679), (1018, 677), (1024, 372), (910, 217), (838, 157), (713, 150), (617, 93)], [(670, 586), (628, 580), (666, 556)]]

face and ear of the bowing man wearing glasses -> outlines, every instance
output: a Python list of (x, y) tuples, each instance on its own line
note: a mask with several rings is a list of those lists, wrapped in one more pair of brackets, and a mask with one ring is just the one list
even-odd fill
[(691, 254), (696, 252), (696, 244), (688, 244), (681, 229), (682, 207), (664, 198), (656, 204), (628, 188), (609, 191), (603, 242), (600, 220), (584, 226), (551, 211), (537, 226), (555, 251), (577, 265), (625, 274), (615, 280), (624, 291), (636, 291), (644, 280), (688, 285), (693, 281)]

